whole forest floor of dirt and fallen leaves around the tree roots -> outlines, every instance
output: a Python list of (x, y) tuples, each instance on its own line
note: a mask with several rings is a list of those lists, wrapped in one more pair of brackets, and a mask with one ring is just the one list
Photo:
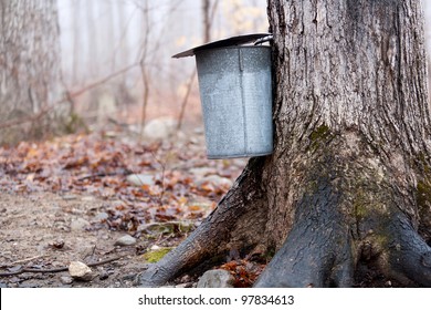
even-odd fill
[[(158, 252), (211, 213), (245, 164), (207, 159), (201, 130), (150, 141), (113, 128), (0, 147), (0, 288), (136, 286)], [(72, 278), (71, 261), (90, 266), (91, 276)], [(236, 257), (218, 268), (235, 287), (250, 287), (264, 265)], [(195, 287), (199, 276), (171, 285)], [(397, 283), (365, 270), (355, 286)]]

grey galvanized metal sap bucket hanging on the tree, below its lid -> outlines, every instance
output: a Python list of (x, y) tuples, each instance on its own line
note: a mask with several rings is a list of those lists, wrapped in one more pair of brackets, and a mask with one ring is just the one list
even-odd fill
[[(193, 54), (198, 68), (208, 158), (271, 154), (271, 48), (216, 46), (195, 49)], [(190, 54), (185, 52), (179, 55)]]

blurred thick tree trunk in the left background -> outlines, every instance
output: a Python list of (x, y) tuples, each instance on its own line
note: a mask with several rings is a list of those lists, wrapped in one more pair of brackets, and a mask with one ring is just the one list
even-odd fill
[(52, 108), (61, 95), (56, 2), (0, 0), (0, 125), (19, 124), (2, 127), (2, 144), (51, 132), (64, 105)]

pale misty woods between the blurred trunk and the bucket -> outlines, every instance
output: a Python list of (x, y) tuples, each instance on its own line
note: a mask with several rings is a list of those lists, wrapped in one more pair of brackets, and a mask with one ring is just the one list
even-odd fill
[(74, 97), (74, 112), (97, 127), (115, 120), (139, 132), (159, 117), (199, 126), (195, 59), (171, 55), (211, 40), (267, 32), (265, 6), (265, 0), (59, 1), (65, 86), (73, 93), (107, 79)]

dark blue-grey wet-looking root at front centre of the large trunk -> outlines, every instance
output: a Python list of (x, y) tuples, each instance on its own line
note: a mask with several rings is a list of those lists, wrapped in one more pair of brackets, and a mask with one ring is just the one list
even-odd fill
[(255, 287), (351, 286), (351, 235), (341, 213), (333, 209), (339, 199), (330, 182), (320, 179), (299, 203), (293, 229)]

